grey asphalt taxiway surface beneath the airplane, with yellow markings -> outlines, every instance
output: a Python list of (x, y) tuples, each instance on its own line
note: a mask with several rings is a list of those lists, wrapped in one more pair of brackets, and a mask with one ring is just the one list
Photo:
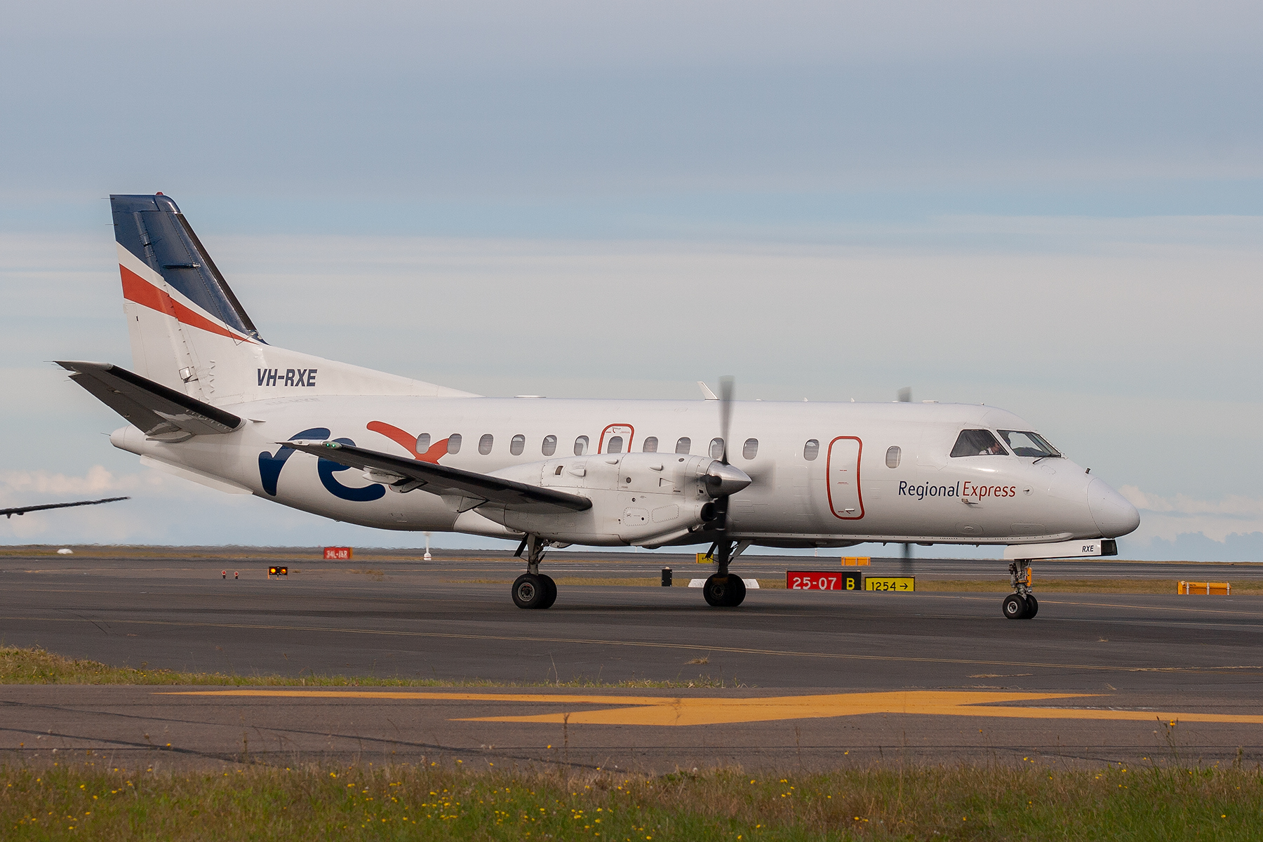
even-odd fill
[[(697, 590), (615, 583), (563, 583), (552, 608), (520, 611), (508, 582), (522, 563), (506, 555), (10, 550), (0, 557), (6, 645), (138, 668), (528, 687), (5, 685), (0, 751), (129, 768), (1263, 761), (1263, 596), (1173, 593), (1177, 579), (1258, 579), (1263, 566), (1038, 563), (1037, 586), (1156, 578), (1172, 593), (1048, 593), (1037, 619), (1010, 621), (998, 593), (759, 590), (716, 610)], [(709, 572), (662, 553), (591, 558), (557, 553), (544, 569), (589, 581), (657, 578), (663, 563), (677, 578)], [(275, 563), (288, 578), (265, 578)], [(1005, 578), (994, 560), (912, 566), (922, 579)], [(865, 572), (902, 567), (874, 559)], [(787, 568), (837, 569), (837, 558), (740, 560), (751, 578)], [(585, 679), (698, 687), (533, 687)]]

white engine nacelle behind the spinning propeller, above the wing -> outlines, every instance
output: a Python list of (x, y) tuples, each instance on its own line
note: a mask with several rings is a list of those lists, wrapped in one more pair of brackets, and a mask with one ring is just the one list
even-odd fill
[(687, 535), (715, 519), (715, 497), (750, 482), (719, 460), (677, 453), (572, 456), (517, 465), (491, 476), (581, 495), (592, 507), (529, 514), (488, 502), (477, 507), (480, 515), (549, 540), (597, 547), (657, 544)]

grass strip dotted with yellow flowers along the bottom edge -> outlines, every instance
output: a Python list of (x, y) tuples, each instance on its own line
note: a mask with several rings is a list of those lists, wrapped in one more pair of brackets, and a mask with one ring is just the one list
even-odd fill
[[(458, 761), (457, 761), (458, 762)], [(472, 766), (470, 762), (469, 766)], [(8, 839), (1258, 839), (1258, 769), (0, 766)]]

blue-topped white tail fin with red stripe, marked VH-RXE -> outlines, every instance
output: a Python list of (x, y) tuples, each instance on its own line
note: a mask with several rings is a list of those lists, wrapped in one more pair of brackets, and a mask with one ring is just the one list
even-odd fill
[(222, 405), (283, 395), (471, 396), (268, 345), (171, 197), (111, 196), (135, 372)]

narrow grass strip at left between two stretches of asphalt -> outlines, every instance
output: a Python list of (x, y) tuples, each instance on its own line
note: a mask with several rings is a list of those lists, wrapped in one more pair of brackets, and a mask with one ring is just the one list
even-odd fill
[(171, 669), (110, 667), (53, 654), (45, 649), (0, 646), (3, 684), (216, 684), (232, 687), (624, 687), (624, 688), (725, 688), (739, 687), (733, 679), (698, 675), (674, 680), (634, 679), (601, 682), (572, 678), (556, 682), (451, 680), (375, 675), (237, 675), (231, 673), (182, 673)]

